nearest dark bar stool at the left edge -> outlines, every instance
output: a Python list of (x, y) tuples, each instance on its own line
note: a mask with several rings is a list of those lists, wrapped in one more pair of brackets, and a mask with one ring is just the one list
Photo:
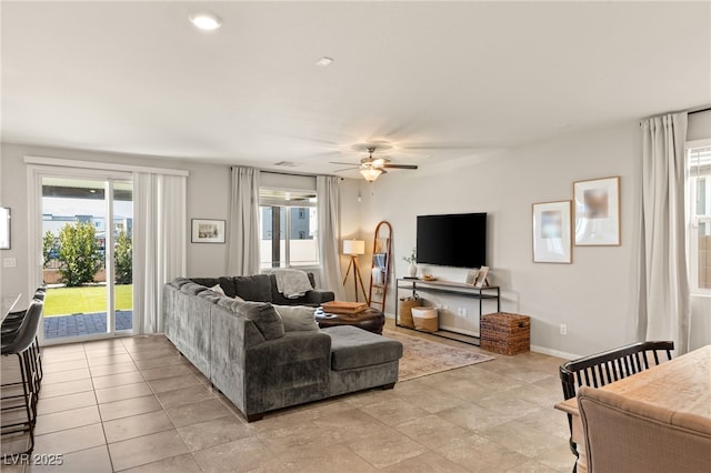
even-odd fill
[[(29, 433), (30, 442), (29, 447), (26, 452), (19, 454), (4, 454), (3, 460), (9, 456), (16, 456), (21, 454), (28, 454), (32, 452), (34, 449), (34, 424), (37, 420), (37, 401), (39, 394), (39, 382), (38, 382), (38, 372), (33, 366), (36, 364), (32, 362), (32, 350), (31, 346), (34, 343), (37, 330), (39, 328), (40, 321), (42, 320), (42, 309), (43, 302), (38, 300), (32, 300), (30, 305), (27, 309), (26, 315), (22, 319), (22, 323), (19, 329), (13, 333), (12, 340), (9, 340), (8, 343), (2, 342), (2, 356), (17, 355), (18, 362), (20, 366), (20, 382), (9, 382), (2, 383), (1, 388), (3, 391), (13, 391), (17, 386), (22, 386), (21, 394), (8, 394), (2, 395), (2, 407), (1, 411), (3, 416), (7, 419), (7, 412), (24, 410), (27, 420), (22, 420), (19, 422), (12, 422), (8, 424), (3, 424), (1, 426), (1, 435), (13, 435), (13, 434), (23, 434)], [(16, 401), (21, 401), (21, 403), (16, 404)]]

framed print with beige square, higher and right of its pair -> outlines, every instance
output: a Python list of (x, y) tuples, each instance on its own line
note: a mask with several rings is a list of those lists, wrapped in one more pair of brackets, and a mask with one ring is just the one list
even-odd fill
[(620, 178), (573, 182), (575, 244), (620, 245)]

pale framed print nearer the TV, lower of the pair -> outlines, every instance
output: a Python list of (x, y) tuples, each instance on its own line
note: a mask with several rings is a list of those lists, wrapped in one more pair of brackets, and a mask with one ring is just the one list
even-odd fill
[(533, 204), (533, 262), (572, 263), (571, 202)]

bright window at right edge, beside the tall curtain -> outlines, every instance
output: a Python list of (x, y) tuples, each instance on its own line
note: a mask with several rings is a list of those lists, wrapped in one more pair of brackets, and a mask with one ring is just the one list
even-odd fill
[(687, 165), (689, 284), (711, 294), (711, 141), (688, 147)]

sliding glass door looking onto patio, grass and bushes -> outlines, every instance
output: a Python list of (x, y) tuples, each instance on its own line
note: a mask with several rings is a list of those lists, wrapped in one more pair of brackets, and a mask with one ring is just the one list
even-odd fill
[[(83, 175), (78, 175), (83, 174)], [(41, 174), (43, 339), (133, 332), (133, 183), (130, 174)]]

